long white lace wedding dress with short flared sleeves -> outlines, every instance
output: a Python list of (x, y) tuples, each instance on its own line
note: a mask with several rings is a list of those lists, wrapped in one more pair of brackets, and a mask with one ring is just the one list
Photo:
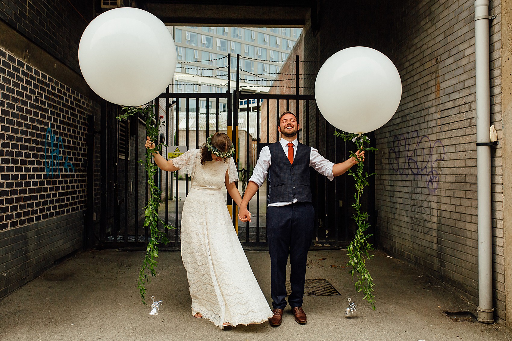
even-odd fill
[[(226, 207), (222, 186), (238, 181), (231, 159), (200, 162), (201, 150), (173, 159), (180, 172), (191, 176), (183, 204), (181, 257), (187, 270), (192, 314), (201, 313), (219, 328), (228, 322), (263, 323), (272, 311), (254, 278)], [(226, 175), (227, 174), (227, 175)]]

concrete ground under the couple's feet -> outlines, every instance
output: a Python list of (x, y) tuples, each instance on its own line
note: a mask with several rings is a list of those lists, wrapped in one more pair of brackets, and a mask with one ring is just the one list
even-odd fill
[[(247, 251), (263, 293), (270, 297), (267, 252)], [(163, 300), (158, 316), (141, 303), (136, 287), (143, 253), (116, 250), (79, 252), (0, 301), (0, 339), (8, 340), (511, 340), (499, 324), (453, 322), (442, 310), (475, 306), (449, 287), (408, 265), (375, 252), (368, 262), (377, 310), (355, 292), (340, 250), (309, 252), (307, 278), (327, 279), (341, 293), (306, 296), (308, 323), (295, 323), (289, 307), (283, 324), (220, 330), (194, 318), (179, 252), (161, 252), (157, 278), (147, 298)], [(326, 258), (326, 260), (320, 260)], [(336, 267), (331, 267), (335, 265)], [(356, 303), (345, 317), (347, 298)], [(150, 300), (151, 301), (151, 300)], [(270, 300), (269, 300), (270, 302)]]

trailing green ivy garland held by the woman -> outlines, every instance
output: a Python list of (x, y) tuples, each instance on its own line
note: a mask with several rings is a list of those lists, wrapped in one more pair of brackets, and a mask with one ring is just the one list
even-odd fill
[[(130, 116), (135, 115), (139, 117), (142, 115), (146, 121), (146, 136), (149, 136), (152, 141), (157, 141), (159, 135), (159, 126), (165, 122), (159, 122), (156, 124), (154, 117), (155, 105), (143, 105), (143, 106), (125, 106), (123, 107), (124, 114), (116, 117), (117, 119), (128, 119)], [(137, 141), (138, 142), (138, 141)], [(136, 143), (137, 143), (136, 142)], [(150, 228), (150, 241), (147, 243), (146, 254), (144, 262), (139, 272), (139, 280), (137, 282), (137, 288), (139, 289), (142, 297), (142, 303), (146, 304), (145, 285), (151, 282), (151, 277), (147, 275), (146, 269), (150, 271), (152, 276), (156, 276), (155, 267), (157, 266), (158, 258), (158, 244), (167, 244), (169, 240), (163, 231), (165, 228), (174, 228), (173, 226), (166, 225), (165, 222), (158, 217), (158, 206), (162, 202), (161, 190), (155, 185), (155, 174), (158, 171), (158, 166), (152, 162), (153, 153), (160, 152), (164, 144), (155, 145), (155, 148), (148, 148), (145, 154), (145, 160), (138, 160), (137, 162), (143, 163), (147, 172), (147, 184), (149, 188), (147, 205), (144, 207), (144, 227)], [(164, 226), (163, 231), (158, 229), (158, 222)]]

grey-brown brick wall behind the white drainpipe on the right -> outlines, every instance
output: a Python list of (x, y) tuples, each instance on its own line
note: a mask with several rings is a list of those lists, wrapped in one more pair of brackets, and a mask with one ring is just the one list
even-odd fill
[[(429, 271), (477, 303), (474, 2), (318, 4), (304, 59), (350, 46), (385, 53), (402, 79), (397, 113), (376, 131), (378, 246)], [(501, 2), (490, 1), (491, 124), (501, 140)], [(364, 7), (365, 11), (358, 11)], [(344, 20), (339, 20), (339, 13)], [(305, 73), (319, 65), (305, 65)], [(313, 87), (314, 80), (305, 80)], [(313, 106), (310, 108), (314, 110)], [(316, 122), (310, 123), (315, 129)], [(325, 139), (325, 120), (318, 119)], [(313, 142), (314, 144), (314, 142)], [(322, 152), (322, 151), (321, 151)], [(494, 307), (505, 319), (501, 146), (492, 148)]]

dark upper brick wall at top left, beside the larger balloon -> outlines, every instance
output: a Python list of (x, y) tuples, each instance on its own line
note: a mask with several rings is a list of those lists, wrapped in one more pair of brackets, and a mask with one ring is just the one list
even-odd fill
[(78, 44), (91, 20), (92, 4), (75, 0), (6, 0), (0, 2), (0, 19), (80, 73)]

